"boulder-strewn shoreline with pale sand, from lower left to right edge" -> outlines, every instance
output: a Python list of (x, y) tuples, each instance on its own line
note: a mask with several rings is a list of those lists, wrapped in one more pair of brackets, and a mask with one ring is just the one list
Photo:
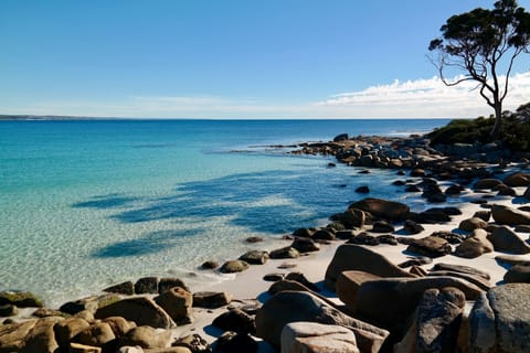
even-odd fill
[(203, 264), (239, 274), (208, 292), (146, 277), (59, 310), (1, 292), (0, 353), (530, 351), (529, 156), (347, 135), (292, 153), (394, 169), (431, 206), (365, 197), (284, 247)]

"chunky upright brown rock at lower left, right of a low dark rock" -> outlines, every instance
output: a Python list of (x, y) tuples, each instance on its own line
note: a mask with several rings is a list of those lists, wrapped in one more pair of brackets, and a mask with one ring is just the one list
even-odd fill
[(155, 302), (159, 304), (177, 324), (186, 324), (192, 321), (191, 307), (193, 296), (186, 289), (173, 287), (156, 297)]

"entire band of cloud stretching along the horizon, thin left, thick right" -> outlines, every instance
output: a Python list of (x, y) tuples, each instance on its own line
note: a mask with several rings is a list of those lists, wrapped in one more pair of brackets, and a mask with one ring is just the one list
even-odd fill
[[(510, 77), (505, 109), (530, 100), (530, 72)], [(120, 101), (42, 101), (6, 114), (128, 118), (475, 118), (492, 109), (476, 85), (447, 87), (438, 77), (394, 81), (307, 104), (216, 96), (131, 96)]]

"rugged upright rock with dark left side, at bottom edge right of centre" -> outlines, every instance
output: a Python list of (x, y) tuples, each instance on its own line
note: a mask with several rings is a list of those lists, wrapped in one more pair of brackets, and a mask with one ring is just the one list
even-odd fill
[(394, 353), (456, 352), (465, 303), (464, 293), (456, 288), (427, 289)]

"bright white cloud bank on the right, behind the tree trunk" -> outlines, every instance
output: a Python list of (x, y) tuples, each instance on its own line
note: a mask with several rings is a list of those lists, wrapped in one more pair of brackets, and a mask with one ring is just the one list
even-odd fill
[[(455, 77), (456, 78), (456, 77)], [(491, 114), (473, 82), (445, 86), (438, 77), (372, 86), (329, 97), (316, 105), (352, 117), (473, 118)], [(505, 109), (530, 100), (530, 73), (510, 77)]]

